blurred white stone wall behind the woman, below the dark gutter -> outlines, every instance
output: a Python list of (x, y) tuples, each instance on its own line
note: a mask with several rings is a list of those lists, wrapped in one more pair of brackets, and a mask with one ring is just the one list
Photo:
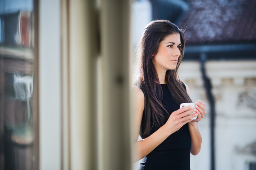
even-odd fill
[[(256, 142), (256, 61), (209, 61), (206, 69), (216, 107), (216, 170), (247, 170), (249, 162), (256, 162), (256, 155), (243, 151)], [(179, 76), (189, 86), (192, 101), (201, 99), (207, 106), (207, 114), (198, 124), (203, 138), (201, 152), (191, 155), (191, 170), (209, 170), (209, 104), (200, 63), (183, 61)], [(241, 94), (244, 102), (239, 102)]]

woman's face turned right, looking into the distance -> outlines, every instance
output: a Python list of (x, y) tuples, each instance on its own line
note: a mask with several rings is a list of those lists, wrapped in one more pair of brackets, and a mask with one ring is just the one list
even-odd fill
[(180, 56), (180, 34), (171, 34), (159, 43), (153, 63), (157, 70), (174, 70)]

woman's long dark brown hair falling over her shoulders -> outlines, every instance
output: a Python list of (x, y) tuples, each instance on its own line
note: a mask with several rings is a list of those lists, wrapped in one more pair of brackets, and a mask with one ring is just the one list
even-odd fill
[(157, 54), (159, 43), (170, 34), (180, 34), (181, 47), (177, 67), (175, 70), (166, 71), (167, 87), (178, 105), (180, 103), (192, 102), (183, 88), (181, 81), (178, 79), (177, 72), (184, 56), (184, 33), (175, 24), (167, 20), (152, 21), (144, 29), (140, 42), (137, 45), (136, 68), (133, 82), (143, 91), (145, 96), (144, 111), (146, 122), (143, 132), (144, 136), (148, 136), (151, 133), (154, 125), (157, 127), (162, 126), (166, 118), (163, 111), (168, 113), (162, 104), (163, 90), (160, 86), (157, 70), (152, 59)]

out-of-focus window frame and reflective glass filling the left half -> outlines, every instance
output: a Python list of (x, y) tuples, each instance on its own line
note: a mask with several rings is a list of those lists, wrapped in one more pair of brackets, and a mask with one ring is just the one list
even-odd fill
[(130, 6), (0, 0), (0, 170), (131, 170)]

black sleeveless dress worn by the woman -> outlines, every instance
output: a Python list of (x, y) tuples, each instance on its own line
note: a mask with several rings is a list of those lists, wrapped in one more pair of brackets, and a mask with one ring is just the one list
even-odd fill
[[(183, 83), (182, 83), (183, 84)], [(168, 90), (167, 84), (160, 84), (163, 89), (163, 106), (169, 111), (169, 115), (177, 111), (180, 105), (175, 102), (171, 93)], [(185, 90), (186, 86), (183, 84)], [(164, 113), (163, 113), (164, 114)], [(165, 122), (168, 120), (167, 116)], [(140, 136), (143, 136), (145, 129), (145, 111), (143, 111), (143, 118), (141, 122)], [(154, 133), (158, 128), (153, 127), (151, 132)], [(191, 138), (189, 135), (189, 127), (186, 123), (166, 138), (160, 145), (158, 145), (151, 153), (145, 156), (140, 163), (139, 170), (190, 170), (190, 148)]]

